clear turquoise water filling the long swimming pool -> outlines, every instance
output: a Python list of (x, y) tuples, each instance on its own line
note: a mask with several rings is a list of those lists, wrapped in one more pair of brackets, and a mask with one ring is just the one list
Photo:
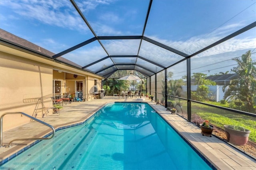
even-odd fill
[(198, 170), (206, 162), (147, 103), (112, 103), (0, 169)]

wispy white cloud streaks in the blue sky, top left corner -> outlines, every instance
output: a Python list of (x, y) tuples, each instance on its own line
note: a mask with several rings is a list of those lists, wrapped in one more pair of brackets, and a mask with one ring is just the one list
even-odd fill
[(81, 32), (88, 31), (86, 24), (80, 18), (74, 7), (68, 0), (8, 0), (1, 6), (8, 6), (13, 12), (30, 20), (38, 20), (41, 23), (61, 28), (69, 28)]

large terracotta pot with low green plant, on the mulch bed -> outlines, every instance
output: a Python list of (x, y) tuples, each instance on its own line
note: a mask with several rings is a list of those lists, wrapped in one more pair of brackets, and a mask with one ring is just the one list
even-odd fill
[(237, 125), (224, 125), (228, 142), (244, 146), (248, 142), (250, 130)]

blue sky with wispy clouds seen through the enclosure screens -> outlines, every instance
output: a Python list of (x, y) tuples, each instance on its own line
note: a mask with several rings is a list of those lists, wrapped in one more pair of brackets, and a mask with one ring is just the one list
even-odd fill
[[(98, 36), (142, 34), (148, 0), (75, 2)], [(153, 0), (144, 36), (192, 54), (255, 21), (256, 0)], [(69, 0), (0, 0), (0, 28), (54, 53), (94, 37)], [(106, 40), (103, 43), (110, 55), (134, 55), (138, 41)], [(159, 47), (146, 42), (142, 45), (140, 55), (148, 55), (150, 60), (161, 58), (166, 65), (178, 60), (173, 53), (160, 51)], [(197, 63), (195, 67), (202, 67), (208, 63), (196, 58), (225, 61), (255, 47), (253, 28), (196, 56), (192, 62)], [(92, 43), (64, 57), (87, 65), (106, 56), (100, 48), (98, 43)], [(155, 55), (150, 56), (151, 53)], [(252, 57), (255, 59), (255, 55)]]

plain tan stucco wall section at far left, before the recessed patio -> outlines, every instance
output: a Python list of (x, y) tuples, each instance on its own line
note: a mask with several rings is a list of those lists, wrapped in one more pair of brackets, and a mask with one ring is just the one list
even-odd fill
[[(36, 103), (23, 99), (52, 93), (52, 67), (0, 52), (0, 114), (24, 112), (32, 115)], [(28, 123), (21, 115), (6, 115), (3, 130)]]

